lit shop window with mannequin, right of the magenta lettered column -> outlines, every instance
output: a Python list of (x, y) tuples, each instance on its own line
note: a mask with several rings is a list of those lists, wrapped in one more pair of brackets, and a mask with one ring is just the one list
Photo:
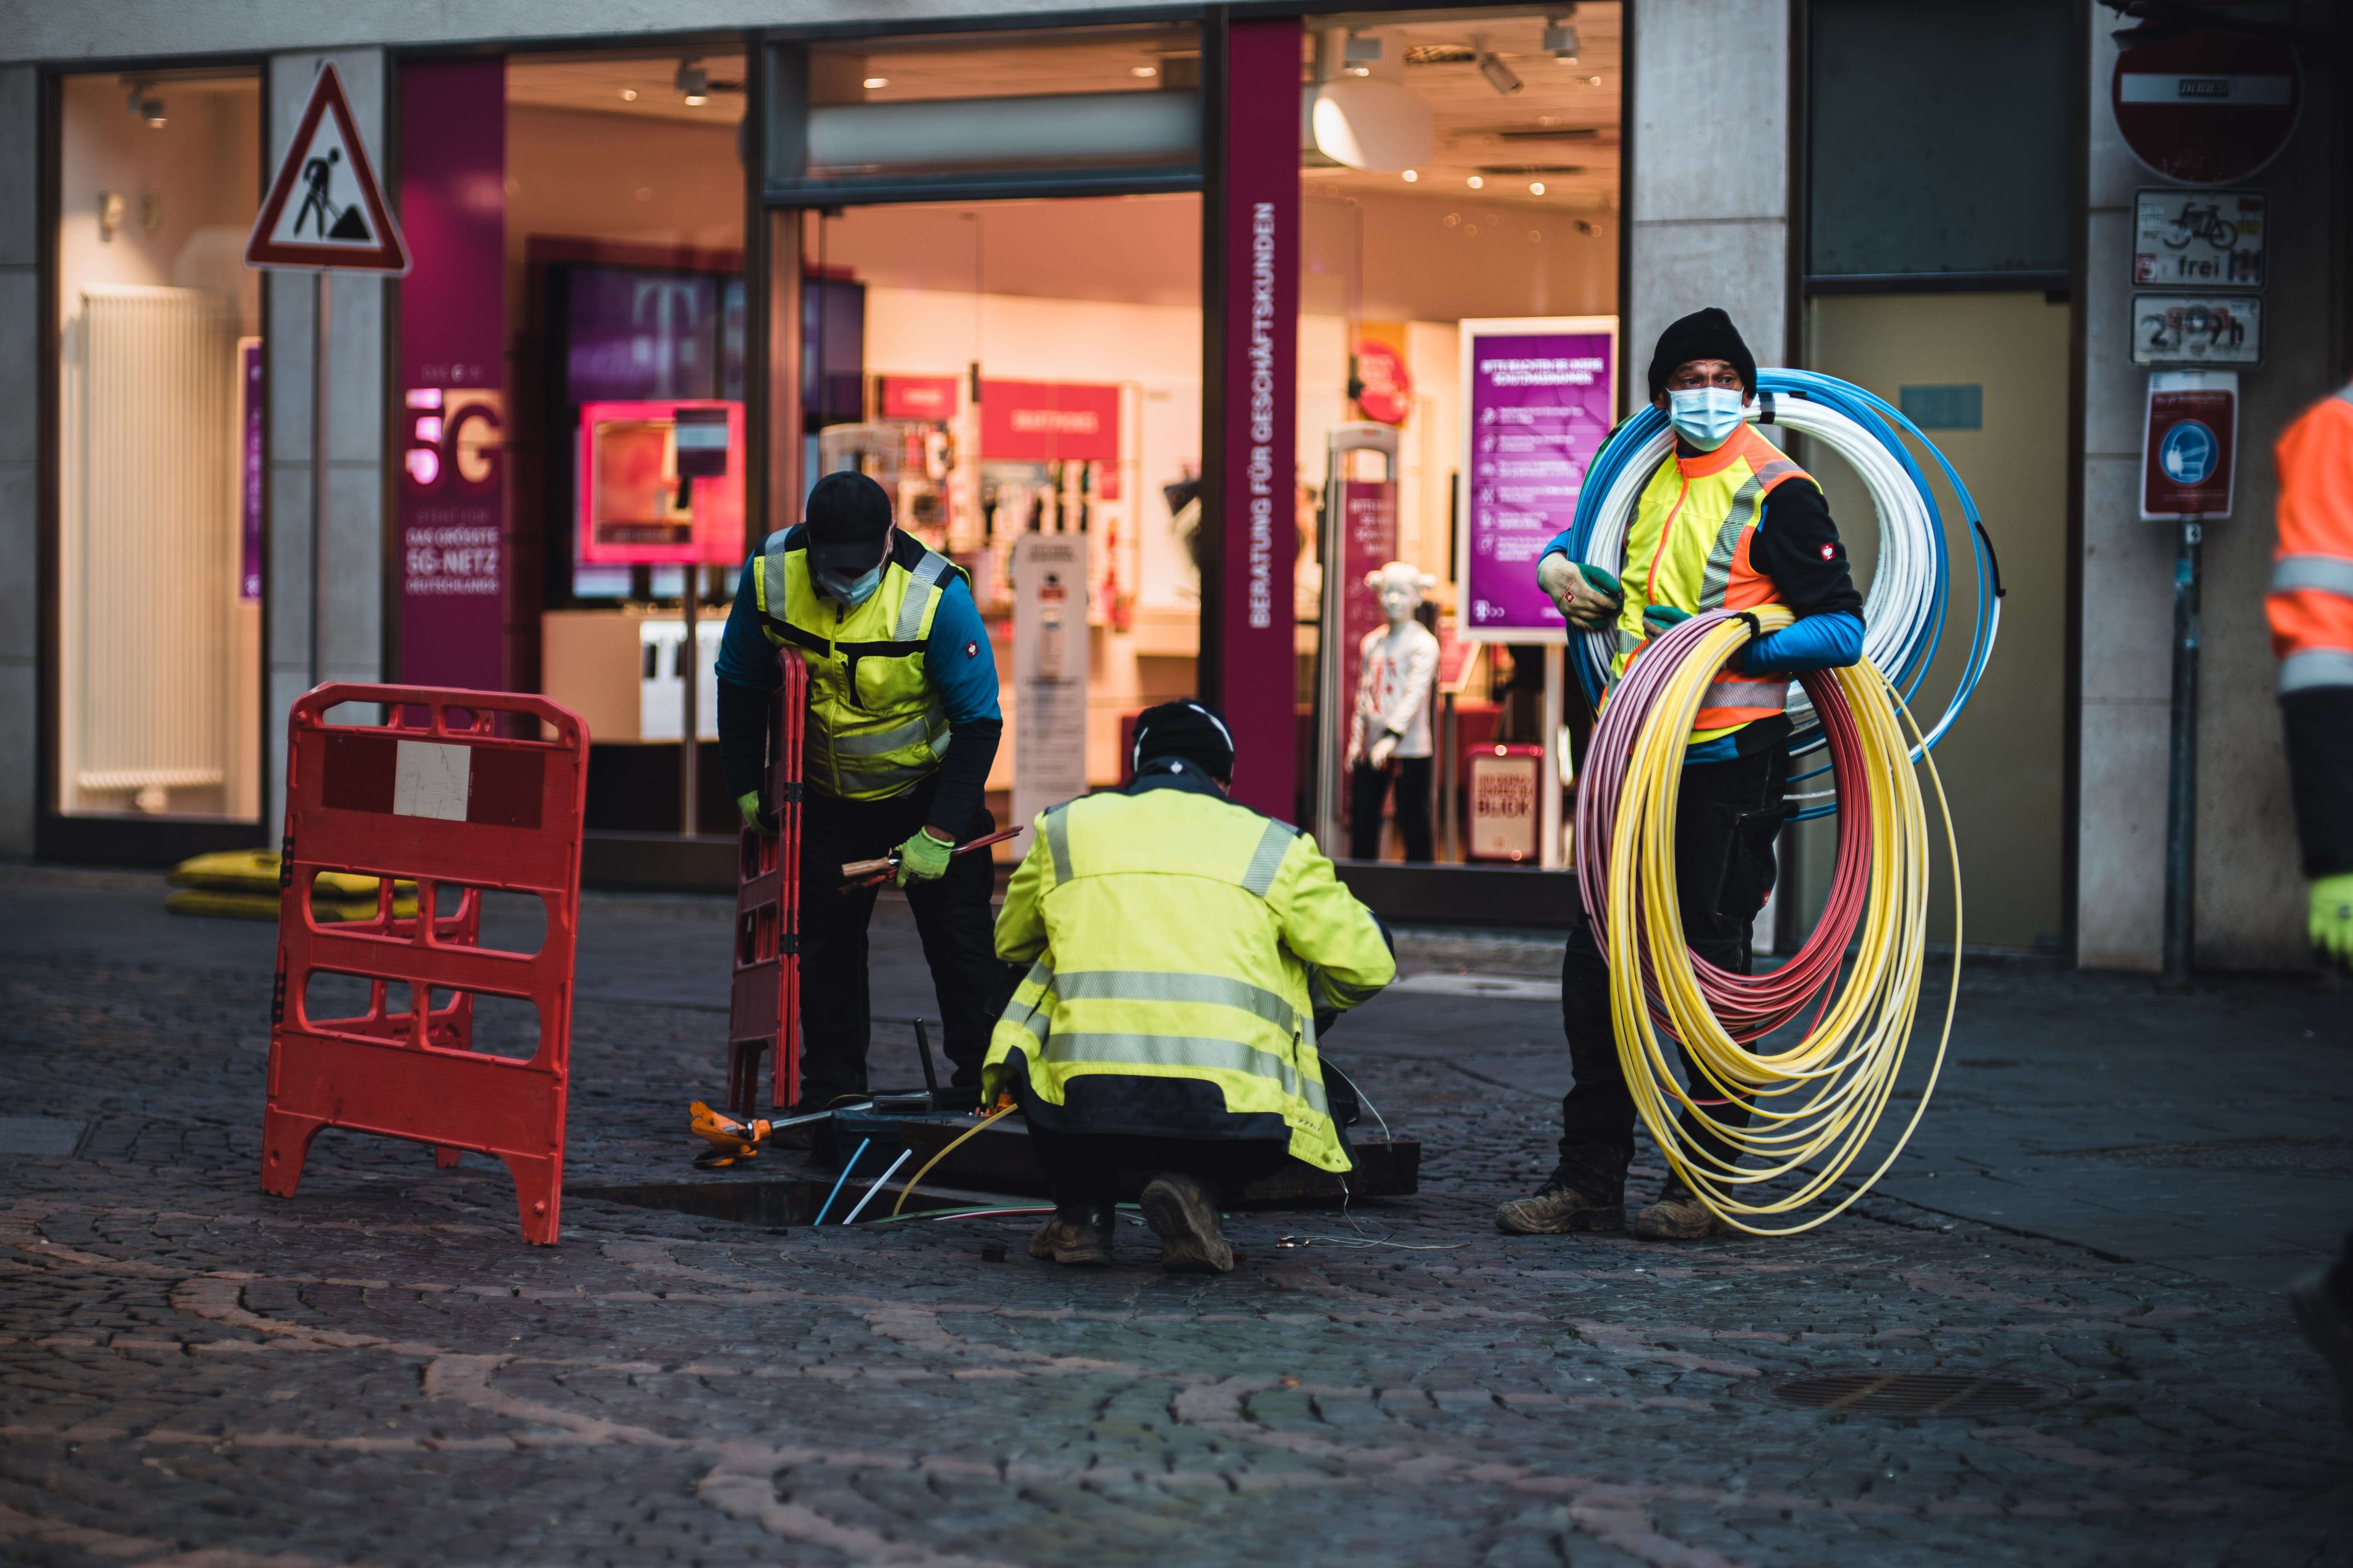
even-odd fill
[[(1304, 24), (1297, 809), (1332, 853), (1400, 858), (1435, 818), (1438, 860), (1548, 860), (1534, 837), (1494, 851), (1471, 788), (1471, 752), (1489, 743), (1525, 743), (1529, 759), (1513, 766), (1534, 769), (1541, 649), (1518, 658), (1506, 637), (1482, 654), (1487, 628), (1464, 628), (1459, 611), (1471, 564), (1527, 578), (1614, 416), (1617, 367), (1586, 360), (1612, 353), (1619, 299), (1621, 38), (1619, 5)], [(1584, 378), (1522, 395), (1515, 414), (1541, 433), (1515, 437), (1525, 451), (1499, 449), (1492, 430), (1478, 442), (1464, 381), (1464, 343), (1501, 322), (1555, 343), (1541, 357)], [(1593, 407), (1569, 409), (1572, 393)], [(1428, 759), (1393, 764), (1372, 790), (1355, 778), (1351, 729), (1369, 691), (1367, 637), (1388, 628), (1365, 578), (1388, 562), (1428, 583), (1412, 618), (1442, 658), (1428, 726), (1407, 743)], [(1558, 642), (1558, 616), (1537, 625), (1548, 607), (1527, 588), (1529, 642)], [(1537, 686), (1501, 701), (1499, 670)], [(1407, 790), (1428, 799), (1405, 802)]]

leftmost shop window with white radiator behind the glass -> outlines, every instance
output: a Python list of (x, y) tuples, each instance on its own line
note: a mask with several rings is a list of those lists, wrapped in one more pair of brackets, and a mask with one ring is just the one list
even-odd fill
[(64, 80), (56, 804), (261, 809), (254, 75)]

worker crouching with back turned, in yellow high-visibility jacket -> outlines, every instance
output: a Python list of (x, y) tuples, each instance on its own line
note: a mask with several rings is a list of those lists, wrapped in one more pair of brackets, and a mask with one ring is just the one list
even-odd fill
[(1219, 1201), (1285, 1154), (1348, 1171), (1315, 1013), (1395, 973), (1315, 842), (1226, 799), (1233, 736), (1200, 703), (1136, 722), (1134, 783), (1038, 813), (998, 914), (1028, 976), (988, 1041), (1054, 1194), (1033, 1258), (1111, 1262), (1120, 1171), (1146, 1171), (1160, 1265), (1224, 1274)]

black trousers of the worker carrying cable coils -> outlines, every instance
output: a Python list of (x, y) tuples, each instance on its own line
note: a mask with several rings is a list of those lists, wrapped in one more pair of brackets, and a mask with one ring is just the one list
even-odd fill
[[(1682, 769), (1675, 804), (1675, 903), (1682, 938), (1718, 969), (1751, 971), (1751, 929), (1774, 882), (1774, 839), (1781, 835), (1788, 750), (1772, 745), (1732, 762)], [(1593, 940), (1584, 900), (1572, 910), (1569, 945), (1560, 959), (1560, 1027), (1569, 1037), (1574, 1088), (1560, 1100), (1560, 1166), (1553, 1182), (1574, 1187), (1591, 1204), (1617, 1204), (1633, 1164), (1633, 1093), (1609, 1027), (1609, 966)], [(1725, 1100), (1682, 1063), (1685, 1084), (1708, 1119), (1748, 1126), (1748, 1105)], [(1732, 1145), (1682, 1112), (1687, 1135), (1732, 1159)]]

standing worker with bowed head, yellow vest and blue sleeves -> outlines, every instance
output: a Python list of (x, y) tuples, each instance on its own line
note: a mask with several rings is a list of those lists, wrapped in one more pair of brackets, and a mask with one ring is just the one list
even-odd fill
[(976, 1103), (1009, 976), (988, 940), (995, 875), (955, 844), (995, 827), (981, 804), (1005, 719), (998, 665), (965, 574), (894, 524), (859, 473), (809, 489), (805, 522), (744, 564), (720, 642), (720, 764), (748, 825), (760, 799), (779, 649), (809, 672), (800, 806), (800, 1100), (866, 1091), (866, 922), (875, 889), (845, 860), (899, 853), (899, 886), (932, 966), (953, 1091)]

